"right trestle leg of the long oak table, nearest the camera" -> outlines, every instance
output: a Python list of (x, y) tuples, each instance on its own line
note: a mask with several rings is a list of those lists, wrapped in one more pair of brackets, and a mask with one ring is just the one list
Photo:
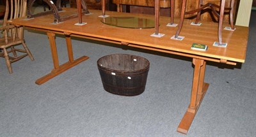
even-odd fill
[(209, 87), (209, 83), (204, 82), (205, 74), (205, 61), (202, 59), (193, 59), (195, 65), (193, 85), (191, 90), (191, 100), (183, 119), (180, 121), (177, 131), (179, 133), (187, 134), (189, 127), (191, 126), (196, 112), (204, 99), (205, 92)]

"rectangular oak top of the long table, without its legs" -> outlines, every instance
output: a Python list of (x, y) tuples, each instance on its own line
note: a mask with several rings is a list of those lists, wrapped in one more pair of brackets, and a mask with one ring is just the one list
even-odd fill
[[(62, 17), (76, 13), (76, 9), (63, 8), (65, 12), (61, 12)], [(170, 22), (170, 17), (160, 17), (159, 32), (165, 34), (162, 38), (150, 36), (155, 32), (155, 29), (127, 29), (122, 27), (114, 27), (100, 22), (102, 14), (100, 10), (90, 10), (92, 15), (83, 15), (83, 22), (86, 25), (74, 25), (78, 22), (78, 18), (72, 18), (60, 24), (52, 24), (53, 15), (45, 15), (36, 17), (31, 20), (17, 18), (12, 20), (12, 24), (24, 25), (42, 31), (56, 31), (61, 34), (71, 33), (76, 36), (87, 36), (88, 38), (100, 38), (102, 41), (110, 40), (122, 43), (130, 43), (132, 45), (143, 45), (148, 48), (165, 50), (175, 53), (180, 53), (184, 56), (196, 55), (198, 57), (223, 59), (232, 62), (244, 62), (246, 57), (246, 47), (248, 41), (248, 27), (236, 26), (235, 31), (223, 30), (223, 42), (227, 42), (226, 48), (214, 47), (214, 41), (218, 41), (218, 23), (202, 22), (201, 26), (190, 25), (191, 20), (184, 20), (184, 25), (180, 36), (185, 36), (184, 40), (171, 40), (175, 34), (177, 27), (166, 27)], [(115, 11), (106, 11), (106, 15), (111, 17), (143, 17), (154, 20), (152, 15), (118, 13)], [(179, 18), (175, 18), (175, 23), (179, 22)], [(223, 24), (223, 27), (229, 26)], [(193, 43), (200, 43), (208, 46), (207, 51), (191, 50)], [(179, 54), (178, 54), (179, 55)], [(207, 59), (205, 59), (207, 60)], [(211, 61), (211, 60), (209, 60)]]

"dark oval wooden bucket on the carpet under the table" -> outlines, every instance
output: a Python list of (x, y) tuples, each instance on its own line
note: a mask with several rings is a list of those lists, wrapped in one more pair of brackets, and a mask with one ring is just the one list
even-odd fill
[(150, 63), (136, 55), (113, 54), (97, 61), (100, 78), (106, 91), (122, 96), (144, 92)]

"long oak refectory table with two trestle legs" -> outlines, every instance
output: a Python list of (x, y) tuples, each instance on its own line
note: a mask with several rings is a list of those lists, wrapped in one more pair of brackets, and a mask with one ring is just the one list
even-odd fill
[[(65, 11), (61, 12), (60, 15), (67, 16), (77, 13), (77, 10), (72, 8), (64, 8), (64, 10)], [(65, 22), (61, 22), (60, 24), (52, 24), (54, 20), (53, 15), (36, 17), (31, 20), (26, 20), (24, 17), (11, 21), (12, 24), (24, 25), (28, 29), (47, 33), (52, 52), (53, 69), (48, 75), (36, 80), (38, 85), (51, 80), (54, 76), (59, 75), (63, 71), (66, 71), (89, 58), (86, 56), (78, 59), (73, 58), (72, 36), (191, 57), (193, 58), (192, 63), (195, 65), (193, 85), (191, 88), (191, 100), (188, 110), (186, 110), (186, 113), (177, 128), (178, 132), (186, 134), (188, 133), (189, 127), (191, 126), (200, 103), (204, 98), (205, 92), (209, 87), (209, 83), (204, 82), (206, 62), (210, 61), (236, 65), (237, 63), (243, 63), (245, 61), (248, 27), (236, 26), (236, 31), (223, 30), (223, 41), (228, 43), (228, 46), (223, 48), (212, 46), (214, 41), (218, 41), (218, 32), (216, 31), (218, 29), (218, 24), (214, 22), (202, 22), (203, 25), (198, 27), (189, 25), (191, 20), (184, 20), (183, 29), (180, 34), (185, 36), (185, 38), (184, 40), (179, 41), (170, 39), (177, 31), (177, 28), (166, 27), (164, 25), (170, 21), (170, 17), (159, 18), (159, 32), (165, 35), (161, 38), (156, 38), (150, 36), (154, 33), (154, 28), (127, 29), (113, 27), (100, 22), (102, 18), (99, 18), (99, 15), (102, 14), (102, 11), (90, 11), (92, 12), (92, 15), (83, 15), (83, 22), (86, 22), (86, 25), (74, 25), (79, 22), (78, 18), (72, 18)], [(110, 17), (141, 17), (154, 20), (154, 16), (152, 15), (118, 13), (115, 11), (107, 11), (107, 14), (110, 15)], [(175, 22), (179, 22), (179, 19), (175, 19)], [(223, 24), (223, 27), (225, 26), (228, 26), (228, 24)], [(59, 64), (58, 53), (56, 50), (56, 34), (63, 34), (67, 42), (68, 61), (61, 65)], [(191, 50), (191, 45), (193, 43), (207, 45), (208, 50)]]

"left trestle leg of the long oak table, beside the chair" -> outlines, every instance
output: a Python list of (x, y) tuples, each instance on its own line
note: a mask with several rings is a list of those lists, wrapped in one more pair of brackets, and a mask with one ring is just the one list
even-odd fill
[(65, 34), (66, 42), (67, 42), (67, 50), (68, 50), (68, 62), (65, 62), (61, 66), (59, 65), (59, 59), (58, 59), (58, 52), (56, 48), (56, 42), (55, 42), (55, 34), (53, 32), (47, 32), (47, 36), (50, 41), (50, 47), (52, 52), (52, 61), (53, 61), (53, 69), (51, 73), (43, 76), (42, 78), (39, 78), (36, 80), (36, 84), (41, 85), (42, 83), (47, 82), (48, 80), (51, 80), (51, 78), (54, 78), (55, 76), (60, 75), (60, 73), (63, 73), (67, 69), (72, 68), (73, 66), (76, 66), (80, 62), (86, 61), (89, 59), (87, 56), (79, 57), (78, 59), (73, 59), (73, 52), (72, 52), (72, 43), (70, 34)]

